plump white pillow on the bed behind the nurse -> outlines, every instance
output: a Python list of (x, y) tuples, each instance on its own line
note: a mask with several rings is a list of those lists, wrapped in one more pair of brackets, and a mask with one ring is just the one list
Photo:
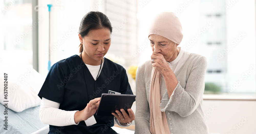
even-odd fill
[[(7, 99), (4, 99), (4, 73), (8, 74)], [(13, 64), (0, 66), (0, 103), (8, 103), (8, 109), (15, 112), (39, 106), (41, 99), (37, 94), (44, 81), (45, 78), (32, 67)], [(9, 102), (3, 102), (6, 100)]]

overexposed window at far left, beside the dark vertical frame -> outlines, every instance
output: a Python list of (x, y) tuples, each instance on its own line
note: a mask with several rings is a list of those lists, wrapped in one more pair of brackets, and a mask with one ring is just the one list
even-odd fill
[(33, 67), (31, 0), (0, 3), (0, 65)]

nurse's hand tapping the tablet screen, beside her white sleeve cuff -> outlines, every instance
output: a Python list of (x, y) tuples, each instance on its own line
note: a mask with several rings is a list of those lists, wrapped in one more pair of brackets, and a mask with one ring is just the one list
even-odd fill
[(75, 123), (85, 121), (95, 114), (100, 104), (100, 97), (90, 100), (82, 111), (77, 111), (74, 115)]

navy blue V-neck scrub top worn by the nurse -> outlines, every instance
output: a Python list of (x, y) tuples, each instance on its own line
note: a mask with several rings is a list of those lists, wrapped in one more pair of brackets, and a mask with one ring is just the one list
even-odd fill
[[(96, 98), (101, 97), (102, 93), (108, 93), (108, 90), (133, 94), (125, 69), (107, 58), (104, 58), (103, 64), (96, 83)], [(95, 80), (78, 55), (52, 65), (38, 96), (60, 103), (61, 110), (83, 110), (89, 103), (83, 68), (89, 88), (89, 100), (94, 99)], [(62, 127), (50, 125), (49, 134), (116, 133), (111, 128), (114, 126), (114, 116), (97, 116), (95, 113), (94, 117), (97, 123), (92, 126), (86, 126), (84, 121), (78, 125)]]

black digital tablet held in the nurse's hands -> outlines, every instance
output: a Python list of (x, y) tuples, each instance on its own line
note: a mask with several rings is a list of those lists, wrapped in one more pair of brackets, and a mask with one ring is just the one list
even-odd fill
[(115, 110), (127, 109), (132, 107), (136, 95), (130, 94), (102, 94), (100, 105), (96, 113), (97, 116), (114, 116)]

